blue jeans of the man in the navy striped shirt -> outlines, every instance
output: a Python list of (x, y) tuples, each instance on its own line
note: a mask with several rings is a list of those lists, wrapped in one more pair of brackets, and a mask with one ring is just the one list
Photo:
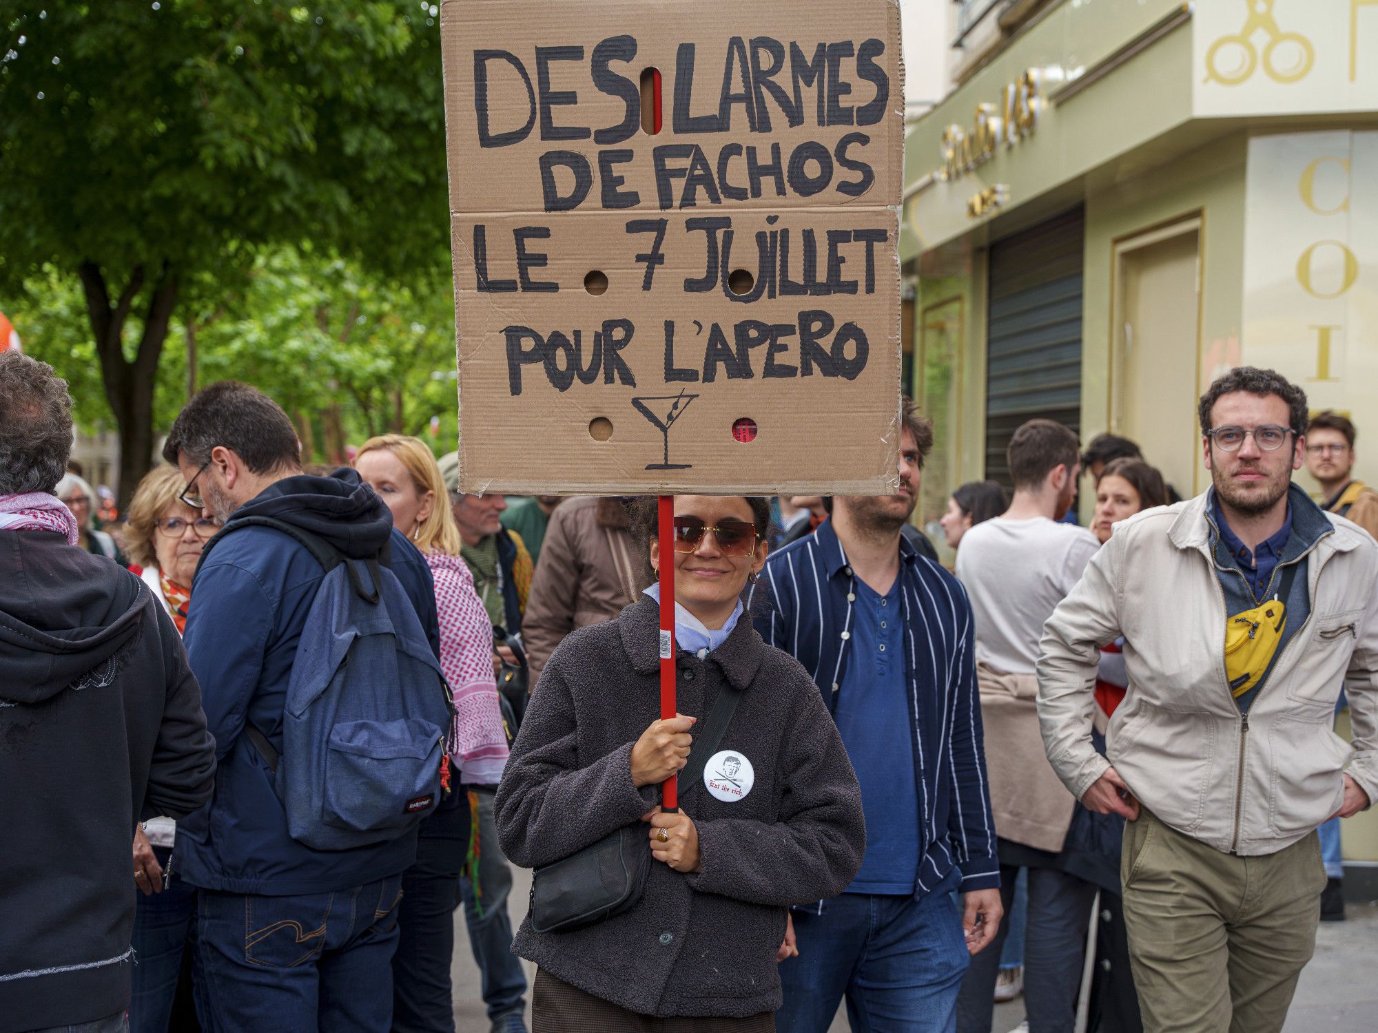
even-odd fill
[(845, 893), (795, 910), (799, 956), (780, 966), (779, 1033), (825, 1033), (846, 997), (853, 1033), (951, 1033), (970, 959), (954, 870), (922, 897)]

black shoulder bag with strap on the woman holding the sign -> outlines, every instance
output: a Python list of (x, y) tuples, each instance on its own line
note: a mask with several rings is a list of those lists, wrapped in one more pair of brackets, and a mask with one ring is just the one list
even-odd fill
[[(679, 771), (681, 793), (703, 777), (740, 701), (741, 690), (725, 680)], [(652, 861), (645, 826), (635, 822), (537, 868), (531, 881), (531, 927), (536, 932), (568, 932), (630, 910), (646, 890)]]

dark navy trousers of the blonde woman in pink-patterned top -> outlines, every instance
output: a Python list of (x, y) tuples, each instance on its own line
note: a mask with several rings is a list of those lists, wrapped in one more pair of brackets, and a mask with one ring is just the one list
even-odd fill
[(467, 853), (469, 802), (455, 792), (422, 821), (416, 864), (402, 872), (391, 1033), (455, 1033), (451, 963)]

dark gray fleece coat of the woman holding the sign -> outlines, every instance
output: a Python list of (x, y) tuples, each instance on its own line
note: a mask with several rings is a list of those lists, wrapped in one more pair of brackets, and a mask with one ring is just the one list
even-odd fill
[[(515, 864), (558, 861), (660, 802), (659, 786), (631, 781), (633, 744), (660, 716), (657, 628), (657, 605), (642, 599), (551, 656), (497, 788), (497, 839)], [(696, 734), (725, 682), (744, 690), (718, 749), (751, 762), (750, 792), (725, 802), (700, 781), (681, 796), (700, 872), (656, 862), (635, 908), (569, 932), (537, 934), (528, 917), (513, 950), (645, 1015), (774, 1011), (785, 909), (842, 893), (861, 866), (861, 792), (808, 672), (750, 620), (678, 667), (678, 708), (700, 719)]]

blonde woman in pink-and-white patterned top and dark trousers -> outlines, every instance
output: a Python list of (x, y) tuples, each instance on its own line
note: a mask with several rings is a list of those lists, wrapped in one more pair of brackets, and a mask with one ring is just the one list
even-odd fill
[[(354, 468), (391, 510), (393, 526), (416, 543), (435, 581), (440, 665), (456, 711), (449, 753), (459, 780), (470, 786), (496, 785), (507, 763), (507, 735), (493, 683), (493, 628), (459, 556), (459, 528), (435, 456), (416, 438), (384, 434), (364, 442)], [(455, 891), (471, 853), (467, 799), (473, 797), (451, 793), (422, 822), (416, 864), (402, 876), (401, 938), (393, 959), (394, 1033), (455, 1029), (449, 964)]]

